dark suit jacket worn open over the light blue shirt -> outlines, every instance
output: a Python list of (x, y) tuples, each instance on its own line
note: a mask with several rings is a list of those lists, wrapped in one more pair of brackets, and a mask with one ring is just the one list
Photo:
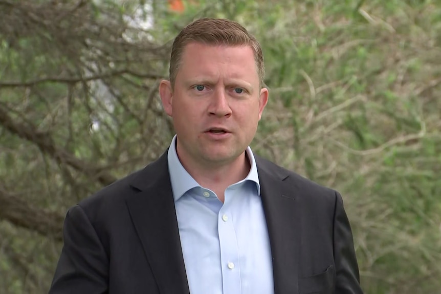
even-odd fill
[[(166, 154), (68, 211), (50, 294), (189, 293)], [(256, 163), (275, 293), (361, 294), (340, 194)]]

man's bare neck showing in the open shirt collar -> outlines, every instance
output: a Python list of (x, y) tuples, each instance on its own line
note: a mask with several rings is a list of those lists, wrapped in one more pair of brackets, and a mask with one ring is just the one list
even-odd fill
[(182, 166), (196, 180), (199, 185), (216, 193), (220, 201), (224, 202), (225, 189), (247, 177), (251, 163), (246, 151), (234, 161), (213, 165), (195, 163), (179, 156)]

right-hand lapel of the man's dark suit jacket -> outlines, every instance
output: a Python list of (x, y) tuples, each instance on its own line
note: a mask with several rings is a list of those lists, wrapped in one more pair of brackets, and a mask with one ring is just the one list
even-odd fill
[(257, 156), (256, 164), (273, 257), (274, 292), (297, 293), (301, 235), (299, 191), (283, 182), (288, 172)]

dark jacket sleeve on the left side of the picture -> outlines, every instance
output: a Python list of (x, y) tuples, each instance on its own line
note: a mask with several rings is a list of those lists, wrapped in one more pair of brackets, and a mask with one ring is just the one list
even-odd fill
[(80, 206), (64, 220), (64, 244), (49, 294), (108, 292), (108, 256)]

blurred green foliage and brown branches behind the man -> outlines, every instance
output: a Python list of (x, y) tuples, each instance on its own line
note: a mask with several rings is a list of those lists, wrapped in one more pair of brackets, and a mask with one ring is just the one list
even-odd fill
[(261, 42), (251, 147), (342, 193), (365, 293), (441, 293), (435, 0), (0, 0), (0, 293), (47, 293), (67, 209), (164, 152), (158, 82), (204, 16)]

